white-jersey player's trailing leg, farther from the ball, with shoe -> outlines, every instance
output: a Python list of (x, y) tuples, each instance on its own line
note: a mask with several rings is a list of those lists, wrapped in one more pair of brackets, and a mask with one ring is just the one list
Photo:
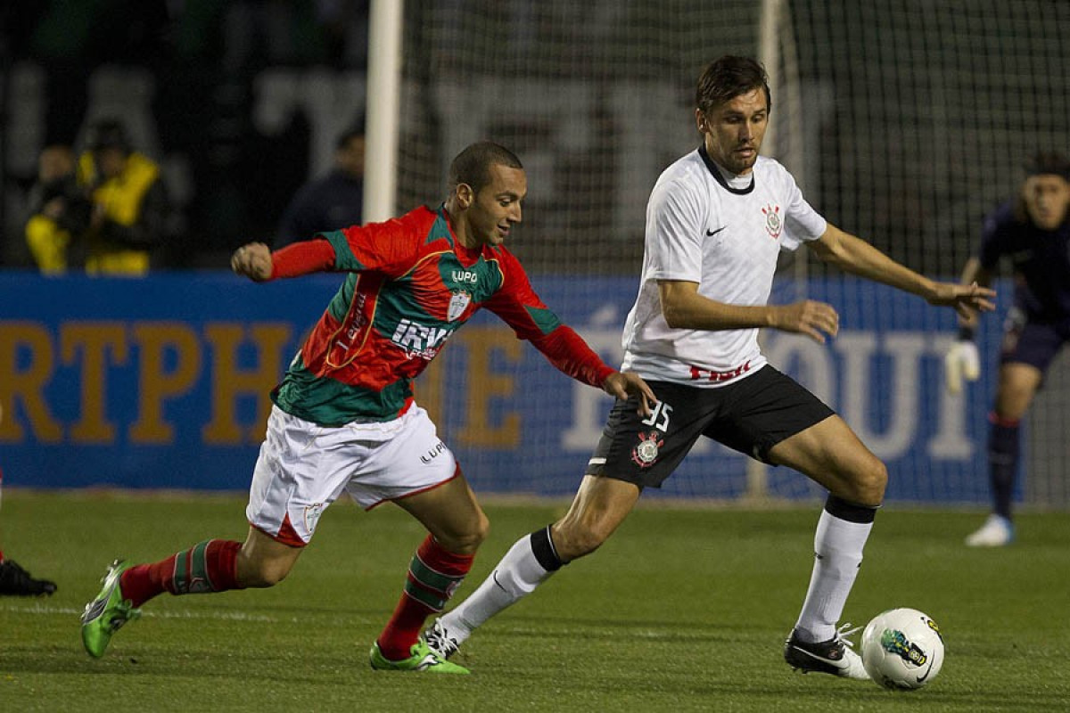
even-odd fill
[(492, 616), (535, 591), (563, 564), (597, 549), (628, 516), (639, 495), (632, 483), (585, 476), (565, 516), (520, 538), (472, 594), (434, 622), (428, 642), (452, 655)]

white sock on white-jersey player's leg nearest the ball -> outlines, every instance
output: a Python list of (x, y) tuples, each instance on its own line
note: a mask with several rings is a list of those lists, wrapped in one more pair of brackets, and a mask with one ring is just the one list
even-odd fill
[(872, 522), (852, 523), (822, 510), (813, 537), (810, 588), (795, 623), (795, 631), (804, 641), (826, 641), (836, 635), (836, 624), (858, 576), (862, 548), (871, 529)]

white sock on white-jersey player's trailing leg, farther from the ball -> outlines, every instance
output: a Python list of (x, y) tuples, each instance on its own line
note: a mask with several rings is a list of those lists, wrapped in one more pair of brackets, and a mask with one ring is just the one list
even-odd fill
[(441, 618), (442, 623), (460, 644), (485, 621), (535, 591), (551, 574), (536, 559), (532, 536), (525, 534), (468, 599)]

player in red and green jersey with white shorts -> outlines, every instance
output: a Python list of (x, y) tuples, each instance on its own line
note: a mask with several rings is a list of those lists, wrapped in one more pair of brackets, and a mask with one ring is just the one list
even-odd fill
[(371, 647), (372, 668), (467, 673), (421, 636), (472, 565), (487, 532), (449, 448), (414, 401), (412, 381), (482, 307), (557, 369), (649, 415), (654, 394), (608, 366), (532, 290), (503, 243), (521, 220), (526, 177), (506, 149), (479, 142), (449, 169), (438, 210), (321, 234), (272, 252), (239, 248), (231, 267), (263, 281), (318, 272), (346, 282), (273, 391), (249, 489), (244, 543), (209, 540), (155, 563), (117, 560), (82, 616), (93, 656), (144, 602), (172, 594), (271, 587), (290, 572), (317, 522), (345, 490), (366, 509), (389, 500), (428, 530), (394, 615)]

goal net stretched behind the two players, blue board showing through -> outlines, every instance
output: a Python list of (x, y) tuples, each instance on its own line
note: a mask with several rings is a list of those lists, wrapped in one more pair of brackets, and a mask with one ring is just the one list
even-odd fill
[[(647, 195), (700, 140), (694, 82), (708, 61), (749, 55), (773, 77), (764, 153), (831, 222), (954, 279), (981, 216), (1014, 191), (1023, 160), (1040, 148), (1070, 149), (1068, 27), (1070, 5), (1055, 0), (408, 0), (397, 207), (441, 200), (449, 160), (472, 141), (515, 151), (529, 196), (509, 248), (550, 307), (616, 363)], [(766, 350), (889, 463), (890, 495), (984, 501), (990, 387), (979, 383), (959, 401), (942, 396), (953, 315), (802, 253), (785, 261), (774, 299), (800, 295), (836, 305), (844, 335), (827, 346), (766, 335)], [(988, 317), (989, 356), (998, 331)], [(493, 317), (458, 332), (417, 398), (477, 487), (552, 495), (575, 490), (610, 406)], [(1066, 460), (1056, 451), (1067, 406), (1038, 404), (1030, 463)], [(747, 462), (704, 445), (663, 492), (817, 494), (783, 468), (749, 478)]]

